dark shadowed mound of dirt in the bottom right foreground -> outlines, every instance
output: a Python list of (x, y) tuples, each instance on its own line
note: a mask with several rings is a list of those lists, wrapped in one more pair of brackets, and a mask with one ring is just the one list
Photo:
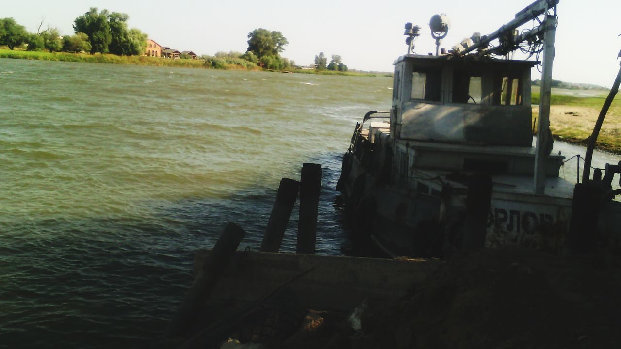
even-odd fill
[(327, 319), (323, 335), (289, 347), (619, 348), (620, 266), (612, 255), (481, 250), (443, 263), (402, 299), (369, 300), (361, 330), (330, 330)]

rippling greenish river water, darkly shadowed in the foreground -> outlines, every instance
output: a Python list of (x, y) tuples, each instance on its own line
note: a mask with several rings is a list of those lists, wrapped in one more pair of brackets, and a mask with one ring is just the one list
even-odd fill
[[(158, 337), (191, 283), (194, 250), (229, 220), (247, 230), (242, 248), (256, 249), (280, 179), (299, 179), (304, 162), (324, 166), (318, 252), (355, 253), (333, 188), (355, 122), (387, 110), (391, 87), (384, 77), (0, 60), (0, 347), (135, 348)], [(567, 158), (580, 151), (568, 147)], [(600, 155), (594, 166), (619, 160)]]

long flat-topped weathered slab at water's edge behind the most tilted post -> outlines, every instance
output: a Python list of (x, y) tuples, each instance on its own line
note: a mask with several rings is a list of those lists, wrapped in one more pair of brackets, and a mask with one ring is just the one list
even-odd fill
[[(211, 251), (199, 250), (199, 268)], [(289, 284), (301, 306), (316, 310), (349, 312), (368, 297), (394, 299), (412, 284), (423, 281), (443, 262), (406, 258), (389, 260), (294, 253), (236, 252), (209, 302), (255, 302), (304, 271)]]

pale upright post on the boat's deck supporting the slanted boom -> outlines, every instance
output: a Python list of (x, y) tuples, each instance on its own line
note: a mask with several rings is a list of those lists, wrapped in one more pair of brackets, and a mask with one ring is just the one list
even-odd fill
[(552, 63), (554, 61), (554, 39), (556, 16), (545, 16), (545, 47), (543, 48), (542, 87), (540, 93), (539, 117), (537, 118), (537, 148), (535, 150), (535, 194), (545, 194), (546, 163), (553, 142), (550, 134), (550, 97), (552, 88)]

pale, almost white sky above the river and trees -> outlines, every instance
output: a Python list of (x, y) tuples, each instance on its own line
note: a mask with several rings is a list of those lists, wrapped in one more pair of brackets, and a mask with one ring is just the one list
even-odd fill
[[(450, 48), (473, 32), (491, 34), (532, 1), (0, 0), (0, 17), (13, 17), (31, 32), (43, 20), (43, 27), (73, 34), (73, 20), (89, 7), (125, 12), (129, 27), (199, 55), (245, 52), (248, 32), (265, 28), (283, 33), (289, 40), (283, 57), (297, 65), (310, 65), (324, 52), (328, 60), (340, 55), (350, 69), (393, 71), (394, 60), (406, 53), (406, 22), (422, 28), (415, 52), (426, 54), (435, 52), (428, 27), (433, 14), (450, 17), (442, 45)], [(620, 13), (620, 0), (560, 0), (553, 78), (611, 86), (619, 71)], [(532, 78), (540, 78), (537, 70)]]

